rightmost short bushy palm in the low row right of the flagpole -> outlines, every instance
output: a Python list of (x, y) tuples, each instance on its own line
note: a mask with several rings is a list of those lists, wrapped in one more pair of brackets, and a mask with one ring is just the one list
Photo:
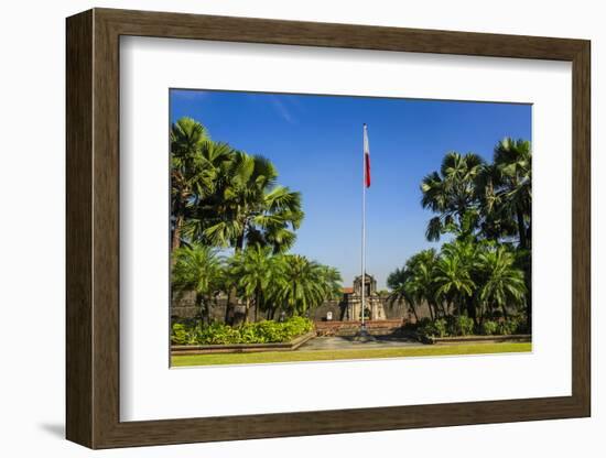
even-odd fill
[(507, 317), (507, 306), (520, 305), (526, 293), (524, 274), (516, 268), (515, 254), (500, 246), (480, 253), (477, 264), (483, 275), (479, 290), (483, 305), (497, 306)]

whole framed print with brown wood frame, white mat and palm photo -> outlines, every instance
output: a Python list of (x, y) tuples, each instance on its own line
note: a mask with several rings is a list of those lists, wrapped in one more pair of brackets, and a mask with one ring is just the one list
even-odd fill
[(589, 42), (67, 19), (91, 448), (591, 414)]

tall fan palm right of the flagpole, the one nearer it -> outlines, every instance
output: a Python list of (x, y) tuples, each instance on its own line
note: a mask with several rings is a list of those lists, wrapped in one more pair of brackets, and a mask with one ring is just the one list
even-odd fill
[[(437, 214), (428, 223), (428, 240), (440, 240), (440, 236), (451, 231), (453, 225), (463, 227), (463, 218), (466, 214), (469, 217), (469, 210), (475, 207), (475, 179), (483, 165), (484, 160), (475, 153), (450, 152), (444, 156), (440, 172), (432, 172), (423, 178), (421, 205)], [(469, 227), (475, 223), (467, 221)]]

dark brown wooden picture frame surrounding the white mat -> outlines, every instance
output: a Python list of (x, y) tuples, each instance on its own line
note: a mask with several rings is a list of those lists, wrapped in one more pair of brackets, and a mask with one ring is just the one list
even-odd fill
[[(121, 35), (572, 63), (572, 395), (120, 422)], [(589, 42), (94, 9), (67, 19), (66, 436), (91, 448), (584, 417), (591, 414)]]

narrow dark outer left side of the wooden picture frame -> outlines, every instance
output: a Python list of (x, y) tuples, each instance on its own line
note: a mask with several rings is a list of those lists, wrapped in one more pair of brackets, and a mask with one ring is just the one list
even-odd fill
[(66, 26), (66, 427), (93, 446), (93, 13)]

